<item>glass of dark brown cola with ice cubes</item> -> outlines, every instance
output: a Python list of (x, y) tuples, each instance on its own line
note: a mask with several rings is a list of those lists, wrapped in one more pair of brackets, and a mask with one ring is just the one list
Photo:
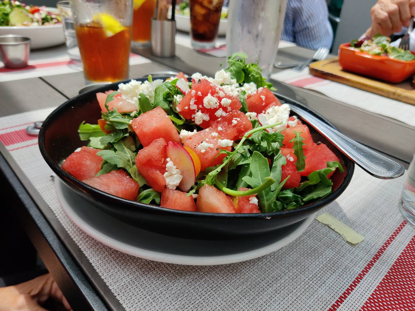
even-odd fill
[(190, 0), (190, 28), (195, 49), (215, 47), (223, 0)]

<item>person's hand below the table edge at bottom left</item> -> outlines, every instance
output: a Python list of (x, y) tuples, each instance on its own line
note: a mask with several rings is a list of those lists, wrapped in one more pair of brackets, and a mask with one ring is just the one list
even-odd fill
[(0, 288), (0, 311), (47, 311), (39, 304), (49, 297), (61, 301), (68, 311), (72, 310), (48, 273), (24, 283)]

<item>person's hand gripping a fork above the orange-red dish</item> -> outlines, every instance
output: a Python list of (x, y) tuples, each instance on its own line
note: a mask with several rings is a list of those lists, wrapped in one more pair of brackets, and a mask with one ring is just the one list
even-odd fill
[(410, 18), (415, 16), (415, 0), (378, 0), (370, 10), (372, 24), (366, 36), (376, 34), (390, 36), (408, 27)]

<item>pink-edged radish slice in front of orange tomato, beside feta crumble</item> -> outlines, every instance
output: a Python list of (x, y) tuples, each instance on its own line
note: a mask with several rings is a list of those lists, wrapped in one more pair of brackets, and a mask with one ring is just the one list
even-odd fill
[(180, 143), (174, 141), (167, 143), (166, 155), (167, 158), (173, 161), (183, 176), (179, 184), (180, 190), (187, 192), (196, 181), (196, 168), (192, 156)]

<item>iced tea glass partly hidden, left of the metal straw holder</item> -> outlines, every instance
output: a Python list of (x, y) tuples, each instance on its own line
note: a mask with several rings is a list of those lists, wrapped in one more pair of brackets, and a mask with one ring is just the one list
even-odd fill
[(132, 15), (132, 46), (150, 46), (151, 18), (154, 16), (157, 0), (134, 0)]

